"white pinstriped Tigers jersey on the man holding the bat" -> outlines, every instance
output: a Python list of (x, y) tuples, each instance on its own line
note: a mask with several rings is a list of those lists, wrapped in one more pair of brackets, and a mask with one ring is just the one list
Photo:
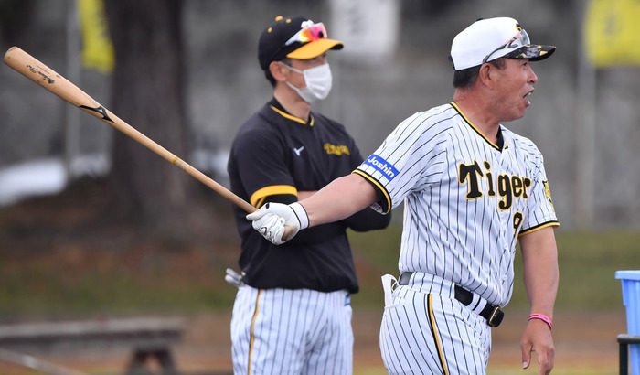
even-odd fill
[(517, 236), (560, 225), (536, 145), (490, 142), (454, 102), (404, 120), (355, 173), (388, 211), (404, 201), (400, 272), (442, 277), (507, 305)]

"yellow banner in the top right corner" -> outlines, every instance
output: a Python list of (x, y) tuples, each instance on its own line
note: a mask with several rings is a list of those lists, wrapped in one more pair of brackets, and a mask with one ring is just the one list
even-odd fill
[(640, 1), (592, 0), (584, 32), (595, 67), (640, 65)]

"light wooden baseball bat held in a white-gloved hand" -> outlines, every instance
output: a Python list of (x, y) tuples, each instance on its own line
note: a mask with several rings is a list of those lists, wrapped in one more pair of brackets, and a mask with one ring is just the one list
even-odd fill
[(54, 70), (51, 70), (47, 65), (41, 63), (22, 49), (17, 47), (9, 48), (5, 53), (5, 63), (14, 70), (23, 74), (29, 80), (33, 80), (48, 91), (53, 92), (65, 101), (80, 108), (82, 111), (91, 113), (103, 122), (109, 123), (114, 128), (129, 135), (133, 140), (146, 146), (151, 151), (155, 152), (155, 154), (164, 157), (171, 164), (187, 172), (191, 177), (195, 177), (198, 181), (208, 187), (211, 187), (222, 197), (229, 199), (232, 203), (238, 205), (240, 209), (244, 209), (248, 213), (256, 210), (255, 207), (233, 194), (226, 187), (223, 187), (212, 178), (197, 170), (195, 167), (190, 166), (176, 155), (170, 153), (165, 149), (165, 147), (156, 144), (146, 135), (138, 132), (130, 124), (123, 122), (123, 120), (119, 119), (118, 116), (104, 108), (101, 103), (96, 102), (91, 98), (91, 96), (87, 95), (84, 91), (81, 91), (78, 86), (69, 82), (69, 80), (65, 79)]

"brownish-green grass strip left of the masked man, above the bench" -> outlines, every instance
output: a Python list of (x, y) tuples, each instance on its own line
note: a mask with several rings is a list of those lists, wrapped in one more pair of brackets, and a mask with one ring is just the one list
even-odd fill
[[(72, 255), (69, 252), (73, 253)], [(0, 316), (56, 318), (230, 310), (236, 288), (207, 252), (57, 250), (0, 262)]]

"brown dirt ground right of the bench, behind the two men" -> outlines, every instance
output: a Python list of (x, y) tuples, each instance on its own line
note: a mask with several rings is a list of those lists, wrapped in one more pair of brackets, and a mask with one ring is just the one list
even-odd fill
[[(522, 317), (524, 316), (526, 314)], [(385, 373), (379, 354), (380, 318), (380, 311), (354, 311), (356, 372)], [(230, 316), (198, 316), (194, 319), (193, 325), (199, 328), (187, 334), (185, 346), (177, 351), (178, 361), (184, 361), (186, 370), (199, 360), (202, 360), (203, 364), (204, 361), (209, 361), (209, 365), (204, 369), (230, 369), (229, 319)], [(557, 315), (554, 323), (557, 370), (554, 373), (563, 374), (580, 369), (598, 370), (594, 373), (602, 375), (617, 373), (618, 346), (615, 337), (619, 333), (626, 332), (625, 324), (624, 314)], [(522, 363), (519, 339), (523, 327), (522, 321), (518, 321), (517, 316), (512, 315), (507, 316), (504, 325), (494, 329), (490, 369), (496, 371), (517, 369), (518, 373), (525, 373), (518, 368)], [(197, 357), (191, 359), (191, 356), (195, 356), (200, 349), (205, 351), (205, 355), (199, 359)], [(211, 353), (215, 354), (211, 355)], [(492, 370), (489, 370), (489, 373), (493, 373)]]

